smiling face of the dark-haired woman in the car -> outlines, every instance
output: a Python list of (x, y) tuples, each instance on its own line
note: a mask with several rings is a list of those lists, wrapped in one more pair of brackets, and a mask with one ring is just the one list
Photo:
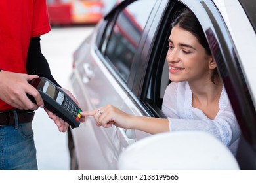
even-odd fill
[(169, 79), (173, 82), (211, 78), (209, 65), (212, 65), (212, 57), (206, 54), (205, 48), (192, 33), (179, 26), (171, 30), (166, 59)]

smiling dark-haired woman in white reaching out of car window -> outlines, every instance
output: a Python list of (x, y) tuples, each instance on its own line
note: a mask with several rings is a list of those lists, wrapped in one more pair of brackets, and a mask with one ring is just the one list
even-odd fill
[(81, 114), (94, 116), (98, 126), (113, 124), (152, 134), (206, 131), (230, 146), (240, 136), (240, 129), (202, 27), (188, 9), (182, 10), (172, 25), (166, 56), (172, 82), (167, 86), (162, 107), (167, 119), (132, 116), (112, 105)]

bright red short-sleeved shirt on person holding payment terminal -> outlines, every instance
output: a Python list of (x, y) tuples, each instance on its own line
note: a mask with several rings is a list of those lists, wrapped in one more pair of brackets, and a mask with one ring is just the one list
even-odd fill
[[(30, 38), (50, 30), (45, 0), (1, 0), (0, 69), (26, 73)], [(0, 111), (11, 108), (0, 100)]]

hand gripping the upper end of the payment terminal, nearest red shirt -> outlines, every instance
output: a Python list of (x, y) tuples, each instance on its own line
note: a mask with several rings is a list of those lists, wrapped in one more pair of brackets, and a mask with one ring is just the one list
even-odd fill
[[(43, 107), (43, 99), (40, 93), (28, 83), (28, 81), (37, 77), (37, 75), (2, 70), (0, 72), (0, 99), (20, 110), (37, 110), (38, 106)], [(37, 105), (32, 103), (26, 93), (35, 98)]]

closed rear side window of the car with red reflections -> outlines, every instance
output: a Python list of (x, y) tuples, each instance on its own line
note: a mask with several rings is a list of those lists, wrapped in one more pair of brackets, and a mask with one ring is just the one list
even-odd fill
[[(133, 58), (142, 37), (142, 32), (155, 1), (135, 1), (117, 15), (114, 25), (109, 24), (108, 39), (102, 44), (101, 51), (113, 64), (117, 73), (127, 82), (131, 73)], [(143, 10), (142, 10), (143, 7)]]

